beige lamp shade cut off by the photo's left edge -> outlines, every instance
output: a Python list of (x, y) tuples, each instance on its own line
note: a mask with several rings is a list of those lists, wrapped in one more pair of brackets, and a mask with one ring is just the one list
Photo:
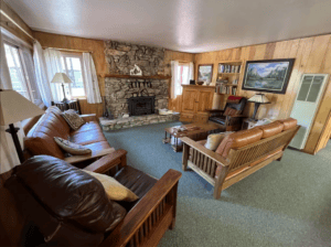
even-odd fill
[(0, 90), (0, 126), (43, 115), (44, 110), (14, 90)]

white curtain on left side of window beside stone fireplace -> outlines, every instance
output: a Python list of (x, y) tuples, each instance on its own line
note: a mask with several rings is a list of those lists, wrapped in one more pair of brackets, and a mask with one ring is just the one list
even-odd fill
[(55, 49), (44, 50), (44, 57), (46, 62), (46, 71), (49, 77), (49, 85), (51, 86), (51, 92), (54, 101), (61, 101), (64, 98), (63, 89), (61, 84), (51, 83), (56, 73), (63, 72), (61, 63), (61, 53)]

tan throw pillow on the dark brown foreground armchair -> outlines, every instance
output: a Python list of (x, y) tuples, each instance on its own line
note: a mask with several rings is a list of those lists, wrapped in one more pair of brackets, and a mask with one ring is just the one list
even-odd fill
[[(84, 171), (84, 170), (83, 170)], [(84, 171), (97, 179), (104, 186), (108, 198), (114, 201), (134, 202), (139, 197), (126, 186), (121, 185), (114, 178), (96, 172)]]

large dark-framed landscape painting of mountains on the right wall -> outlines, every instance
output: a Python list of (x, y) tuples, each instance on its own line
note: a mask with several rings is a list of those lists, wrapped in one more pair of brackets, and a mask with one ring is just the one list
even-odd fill
[(243, 90), (285, 94), (295, 58), (247, 61)]

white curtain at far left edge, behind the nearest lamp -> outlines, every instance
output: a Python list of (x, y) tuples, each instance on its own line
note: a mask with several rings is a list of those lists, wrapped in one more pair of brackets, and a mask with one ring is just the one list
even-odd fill
[[(0, 63), (0, 88), (1, 89), (12, 89), (11, 78), (9, 74), (9, 68), (6, 60), (4, 46), (3, 46), (3, 39), (0, 32), (0, 49), (1, 49), (1, 63)], [(20, 122), (14, 124), (15, 127), (21, 127)], [(8, 129), (8, 126), (0, 127), (0, 173), (7, 172), (13, 167), (20, 164), (20, 160), (17, 153), (17, 149), (13, 144), (13, 140), (10, 133), (6, 132), (4, 130)], [(23, 130), (20, 128), (18, 132), (19, 140), (21, 146), (23, 144)], [(23, 147), (23, 146), (22, 146)]]

